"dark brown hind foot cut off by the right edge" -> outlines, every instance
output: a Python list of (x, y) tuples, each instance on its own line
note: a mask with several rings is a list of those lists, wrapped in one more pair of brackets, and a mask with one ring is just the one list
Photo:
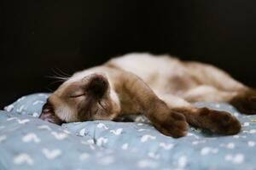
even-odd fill
[(237, 95), (230, 101), (238, 111), (244, 114), (256, 114), (256, 92), (251, 90), (243, 94)]

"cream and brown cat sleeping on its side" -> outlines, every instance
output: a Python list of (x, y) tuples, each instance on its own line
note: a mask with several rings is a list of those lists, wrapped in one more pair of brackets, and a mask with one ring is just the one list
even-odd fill
[(244, 114), (256, 113), (256, 91), (212, 65), (125, 54), (73, 74), (49, 96), (40, 118), (61, 124), (143, 114), (174, 138), (186, 135), (188, 123), (216, 133), (240, 132), (235, 116), (195, 108), (197, 101), (226, 102)]

